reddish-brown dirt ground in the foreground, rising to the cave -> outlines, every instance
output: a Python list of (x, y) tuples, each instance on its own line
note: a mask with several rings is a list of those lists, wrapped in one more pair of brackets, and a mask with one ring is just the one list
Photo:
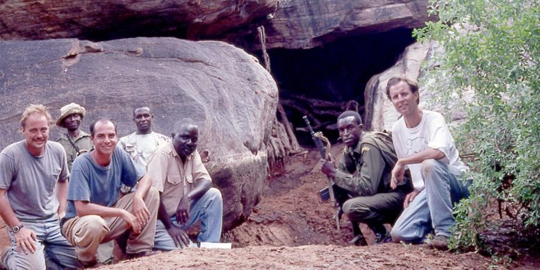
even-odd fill
[[(333, 152), (341, 149), (334, 147)], [(435, 251), (424, 245), (374, 245), (366, 226), (362, 230), (370, 245), (351, 246), (347, 219), (341, 220), (338, 233), (332, 208), (318, 197), (327, 180), (318, 172), (317, 153), (311, 151), (302, 159), (293, 158), (287, 174), (269, 179), (249, 219), (224, 234), (222, 242), (231, 242), (232, 249), (188, 248), (100, 269), (540, 269), (540, 260), (531, 257), (501, 265), (477, 253)], [(6, 246), (6, 240), (2, 233), (0, 244)]]

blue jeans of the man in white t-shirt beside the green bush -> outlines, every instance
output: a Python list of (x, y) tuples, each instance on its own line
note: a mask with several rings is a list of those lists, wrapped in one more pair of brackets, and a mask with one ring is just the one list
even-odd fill
[(455, 222), (453, 204), (468, 197), (468, 185), (458, 180), (447, 164), (424, 160), (421, 170), (425, 189), (395, 221), (391, 231), (394, 240), (420, 243), (433, 230), (435, 235), (452, 236), (450, 227)]

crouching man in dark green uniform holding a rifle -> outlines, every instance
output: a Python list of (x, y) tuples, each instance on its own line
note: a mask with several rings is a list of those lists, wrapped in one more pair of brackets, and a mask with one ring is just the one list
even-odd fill
[(391, 136), (364, 132), (358, 112), (346, 111), (338, 117), (338, 129), (345, 151), (338, 169), (321, 160), (320, 171), (334, 180), (334, 194), (343, 213), (352, 222), (357, 245), (366, 245), (358, 223), (366, 223), (375, 233), (375, 242), (390, 242), (384, 223), (393, 224), (403, 210), (403, 201), (411, 191), (410, 179), (392, 189), (391, 171), (397, 160)]

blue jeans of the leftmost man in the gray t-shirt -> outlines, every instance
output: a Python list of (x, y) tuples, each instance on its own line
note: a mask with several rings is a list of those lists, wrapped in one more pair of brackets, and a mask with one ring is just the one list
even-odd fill
[(3, 264), (7, 269), (77, 269), (83, 265), (77, 260), (75, 248), (60, 233), (60, 221), (54, 215), (49, 219), (21, 221), (24, 228), (33, 230), (38, 241), (35, 252), (17, 252), (17, 241), (10, 228), (8, 236), (11, 246)]

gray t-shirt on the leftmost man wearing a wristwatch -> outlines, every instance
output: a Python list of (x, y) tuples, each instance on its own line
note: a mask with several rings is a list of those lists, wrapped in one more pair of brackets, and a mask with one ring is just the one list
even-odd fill
[(26, 142), (15, 142), (0, 153), (0, 189), (15, 216), (22, 221), (48, 219), (58, 211), (56, 182), (69, 178), (65, 151), (48, 141), (41, 156), (33, 156)]

